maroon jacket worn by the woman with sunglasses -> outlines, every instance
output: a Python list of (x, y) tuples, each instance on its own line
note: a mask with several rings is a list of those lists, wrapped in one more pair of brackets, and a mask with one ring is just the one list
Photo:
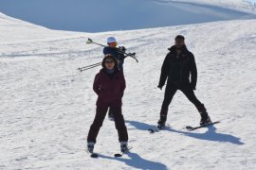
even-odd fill
[(96, 105), (100, 107), (120, 107), (121, 98), (125, 89), (125, 79), (122, 71), (116, 71), (109, 76), (101, 69), (95, 76), (93, 90), (98, 94)]

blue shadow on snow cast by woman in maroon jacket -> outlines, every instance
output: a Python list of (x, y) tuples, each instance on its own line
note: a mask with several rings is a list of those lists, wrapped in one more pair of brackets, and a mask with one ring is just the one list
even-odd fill
[(105, 156), (105, 155), (100, 155), (100, 158), (108, 159), (108, 160), (115, 160), (115, 161), (122, 161), (122, 162), (126, 163), (128, 166), (137, 168), (137, 169), (147, 169), (147, 170), (155, 170), (155, 169), (166, 170), (167, 169), (167, 166), (165, 164), (160, 163), (160, 162), (148, 161), (148, 160), (142, 159), (136, 153), (129, 152), (125, 155), (130, 157), (130, 159), (126, 159), (123, 157), (114, 158), (114, 157), (109, 157), (109, 156)]

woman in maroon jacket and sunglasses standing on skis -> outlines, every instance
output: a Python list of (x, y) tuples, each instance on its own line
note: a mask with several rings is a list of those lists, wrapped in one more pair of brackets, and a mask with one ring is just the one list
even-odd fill
[(125, 90), (125, 79), (118, 68), (118, 61), (112, 55), (102, 60), (102, 69), (95, 76), (93, 90), (98, 95), (96, 116), (87, 136), (87, 150), (93, 152), (96, 138), (102, 126), (108, 107), (113, 110), (116, 128), (119, 134), (121, 152), (128, 150), (128, 132), (121, 111), (121, 98)]

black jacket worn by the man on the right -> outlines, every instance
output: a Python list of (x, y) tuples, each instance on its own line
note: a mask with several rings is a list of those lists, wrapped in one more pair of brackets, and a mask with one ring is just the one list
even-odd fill
[(192, 89), (195, 90), (197, 69), (192, 52), (187, 49), (186, 45), (182, 47), (182, 52), (179, 55), (176, 53), (175, 46), (172, 46), (169, 50), (170, 52), (162, 65), (158, 87), (163, 87), (168, 77), (168, 84), (191, 85)]

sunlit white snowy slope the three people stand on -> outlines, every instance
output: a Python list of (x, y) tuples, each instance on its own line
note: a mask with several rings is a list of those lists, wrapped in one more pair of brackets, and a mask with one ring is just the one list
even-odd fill
[[(0, 169), (231, 169), (256, 168), (256, 21), (172, 26), (96, 34), (53, 31), (0, 15)], [(215, 127), (188, 132), (199, 114), (182, 93), (170, 108), (170, 128), (154, 135), (163, 99), (156, 89), (174, 36), (183, 34), (195, 55), (198, 85)], [(116, 36), (139, 63), (126, 59), (123, 114), (134, 148), (119, 151), (113, 122), (105, 120), (92, 160), (84, 144), (95, 115), (94, 75), (76, 69), (101, 61)]]

